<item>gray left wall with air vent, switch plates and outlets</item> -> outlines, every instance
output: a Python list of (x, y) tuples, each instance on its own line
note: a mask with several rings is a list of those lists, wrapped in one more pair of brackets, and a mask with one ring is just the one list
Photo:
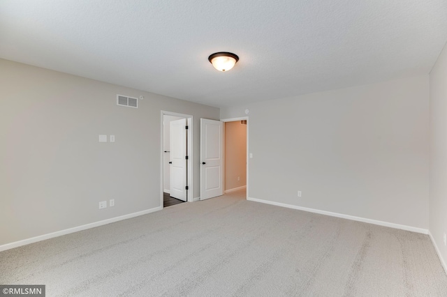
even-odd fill
[[(194, 116), (194, 160), (200, 117), (219, 119), (215, 107), (6, 60), (0, 85), (0, 245), (160, 206), (161, 110)], [(119, 107), (117, 93), (145, 99)]]

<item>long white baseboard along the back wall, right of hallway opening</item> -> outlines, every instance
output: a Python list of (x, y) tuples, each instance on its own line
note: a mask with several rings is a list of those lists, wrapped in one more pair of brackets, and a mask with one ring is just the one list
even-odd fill
[(320, 211), (319, 209), (307, 208), (307, 207), (296, 206), (296, 205), (291, 205), (291, 204), (284, 204), (284, 203), (268, 201), (268, 200), (263, 200), (263, 199), (256, 199), (256, 198), (251, 198), (251, 197), (248, 197), (247, 200), (261, 202), (261, 203), (265, 203), (265, 204), (272, 204), (275, 206), (282, 206), (282, 207), (286, 207), (286, 208), (298, 209), (299, 211), (308, 211), (309, 213), (319, 213), (320, 215), (330, 215), (331, 217), (337, 217), (337, 218), (342, 218), (342, 219), (347, 219), (347, 220), (354, 220), (354, 221), (359, 221), (359, 222), (367, 222), (369, 224), (378, 224), (380, 226), (385, 226), (385, 227), (390, 227), (390, 228), (395, 228), (395, 229), (402, 229), (402, 230), (412, 231), (412, 232), (417, 232), (417, 233), (422, 233), (422, 234), (428, 234), (427, 229), (406, 226), (404, 224), (395, 224), (395, 223), (383, 222), (383, 221), (379, 221), (379, 220), (371, 220), (371, 219), (356, 217), (353, 215), (344, 215), (342, 213), (331, 213), (330, 211)]

